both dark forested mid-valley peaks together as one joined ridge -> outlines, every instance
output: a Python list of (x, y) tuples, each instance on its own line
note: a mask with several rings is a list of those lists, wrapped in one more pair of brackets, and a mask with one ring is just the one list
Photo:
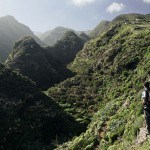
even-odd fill
[(84, 43), (74, 32), (67, 32), (56, 45), (44, 48), (26, 36), (15, 43), (5, 65), (45, 89), (74, 75), (66, 64), (73, 61)]

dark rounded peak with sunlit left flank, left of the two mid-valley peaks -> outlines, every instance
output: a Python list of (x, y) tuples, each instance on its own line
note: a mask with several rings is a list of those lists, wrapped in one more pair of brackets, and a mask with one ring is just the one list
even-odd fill
[(41, 88), (50, 87), (72, 75), (60, 61), (51, 56), (30, 36), (15, 43), (5, 65), (29, 77)]

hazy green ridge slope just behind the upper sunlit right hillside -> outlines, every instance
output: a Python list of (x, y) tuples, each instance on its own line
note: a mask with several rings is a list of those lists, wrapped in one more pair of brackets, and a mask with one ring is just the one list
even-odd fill
[(95, 38), (100, 35), (109, 25), (109, 21), (103, 20), (101, 21), (91, 32), (89, 32), (88, 36), (90, 38)]

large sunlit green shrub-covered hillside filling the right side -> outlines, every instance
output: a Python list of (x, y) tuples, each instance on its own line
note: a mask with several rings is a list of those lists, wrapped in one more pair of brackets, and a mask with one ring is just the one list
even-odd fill
[(70, 66), (77, 75), (47, 91), (80, 122), (91, 119), (84, 134), (58, 149), (124, 150), (134, 144), (144, 120), (142, 82), (150, 78), (150, 16), (138, 16), (113, 20), (77, 54)]

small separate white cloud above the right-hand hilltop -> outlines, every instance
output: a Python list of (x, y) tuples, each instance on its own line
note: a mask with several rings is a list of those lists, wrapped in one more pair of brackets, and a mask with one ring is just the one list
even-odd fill
[(114, 2), (107, 7), (106, 11), (112, 14), (114, 12), (122, 11), (125, 7), (126, 6), (123, 3)]

